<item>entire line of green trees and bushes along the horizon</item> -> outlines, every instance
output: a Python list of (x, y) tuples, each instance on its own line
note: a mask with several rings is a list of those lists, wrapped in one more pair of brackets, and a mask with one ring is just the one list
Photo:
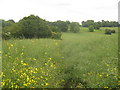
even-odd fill
[(62, 32), (78, 33), (80, 27), (88, 27), (90, 32), (100, 27), (118, 27), (118, 22), (104, 21), (94, 22), (94, 20), (82, 21), (82, 25), (78, 22), (70, 21), (46, 21), (39, 16), (30, 15), (22, 18), (18, 22), (10, 19), (2, 20), (2, 37), (10, 38), (53, 38), (61, 39)]

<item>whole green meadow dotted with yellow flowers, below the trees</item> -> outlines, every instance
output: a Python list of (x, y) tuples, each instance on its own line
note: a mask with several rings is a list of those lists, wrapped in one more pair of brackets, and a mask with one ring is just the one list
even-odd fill
[(3, 87), (118, 87), (118, 33), (104, 29), (81, 28), (62, 40), (3, 40)]

